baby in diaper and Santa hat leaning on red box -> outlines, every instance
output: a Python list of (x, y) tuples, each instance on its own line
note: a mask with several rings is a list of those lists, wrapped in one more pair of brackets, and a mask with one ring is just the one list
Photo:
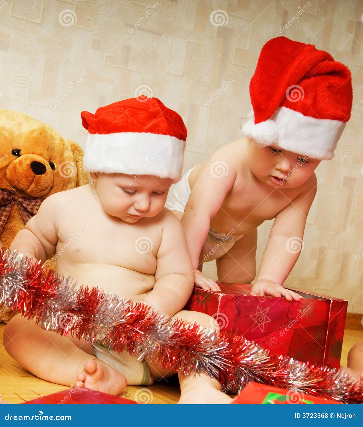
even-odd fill
[(181, 219), (195, 285), (206, 290), (219, 290), (202, 273), (214, 259), (219, 281), (253, 281), (257, 227), (274, 218), (251, 294), (299, 300), (283, 284), (304, 246), (314, 170), (334, 156), (350, 118), (351, 73), (314, 45), (273, 38), (261, 50), (250, 97), (246, 137), (189, 170), (166, 207)]

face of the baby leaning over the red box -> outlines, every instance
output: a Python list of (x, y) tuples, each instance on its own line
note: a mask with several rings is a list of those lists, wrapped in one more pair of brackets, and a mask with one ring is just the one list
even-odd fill
[(256, 177), (270, 187), (294, 188), (304, 184), (320, 160), (287, 151), (273, 145), (259, 148), (250, 141), (250, 169)]

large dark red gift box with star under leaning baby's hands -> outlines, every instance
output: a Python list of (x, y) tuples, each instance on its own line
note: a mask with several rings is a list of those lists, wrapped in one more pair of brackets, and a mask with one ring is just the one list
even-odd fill
[(303, 299), (248, 295), (250, 284), (218, 283), (221, 292), (194, 288), (185, 310), (215, 318), (222, 330), (273, 353), (339, 368), (348, 302), (299, 292)]

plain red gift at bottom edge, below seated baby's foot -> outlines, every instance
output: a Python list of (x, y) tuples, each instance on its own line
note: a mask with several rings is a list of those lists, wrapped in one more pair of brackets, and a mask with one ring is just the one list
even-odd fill
[(116, 405), (136, 405), (136, 402), (129, 399), (120, 398), (118, 396), (108, 395), (106, 393), (98, 392), (96, 390), (85, 389), (83, 387), (74, 387), (73, 389), (63, 390), (52, 395), (42, 396), (41, 398), (34, 399), (23, 405), (35, 404), (65, 404), (65, 405), (80, 405), (80, 404), (116, 404)]

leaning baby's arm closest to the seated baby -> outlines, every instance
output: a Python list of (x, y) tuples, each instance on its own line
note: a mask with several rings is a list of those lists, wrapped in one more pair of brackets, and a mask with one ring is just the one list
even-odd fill
[[(200, 252), (209, 233), (210, 222), (218, 213), (235, 182), (236, 167), (235, 154), (222, 147), (204, 164), (192, 188), (181, 223), (195, 270), (199, 266)], [(212, 281), (206, 286), (203, 276), (199, 272), (196, 274), (196, 286), (220, 290)]]

